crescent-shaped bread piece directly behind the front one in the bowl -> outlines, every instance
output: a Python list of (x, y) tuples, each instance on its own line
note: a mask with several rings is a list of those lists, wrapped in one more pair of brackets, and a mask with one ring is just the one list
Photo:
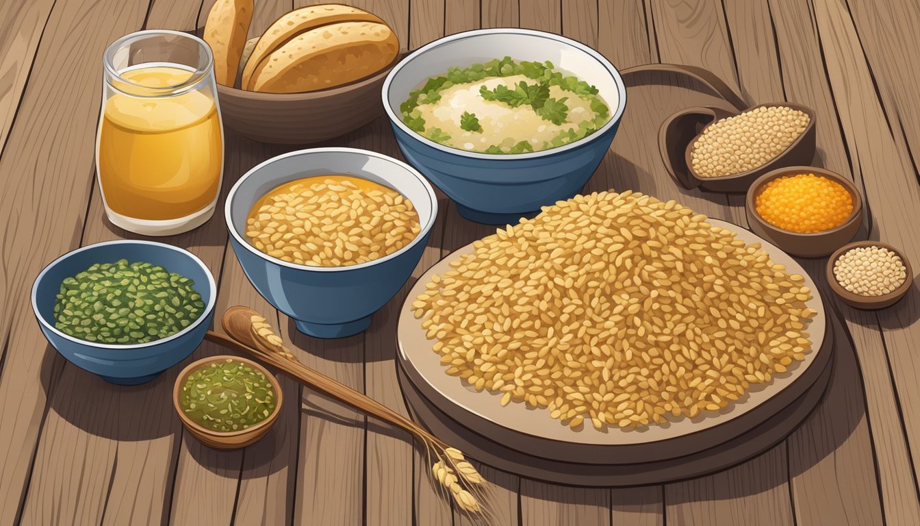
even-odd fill
[(383, 20), (367, 11), (362, 11), (357, 7), (340, 6), (339, 4), (323, 4), (294, 9), (282, 16), (282, 18), (275, 20), (269, 29), (265, 30), (265, 34), (259, 38), (256, 48), (249, 55), (246, 66), (243, 68), (240, 86), (247, 89), (252, 79), (252, 74), (256, 71), (256, 66), (259, 65), (262, 59), (280, 48), (285, 42), (293, 39), (298, 33), (337, 22), (376, 22), (385, 24)]

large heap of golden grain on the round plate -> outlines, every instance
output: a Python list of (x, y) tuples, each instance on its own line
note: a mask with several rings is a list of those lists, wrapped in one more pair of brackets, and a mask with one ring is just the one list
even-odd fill
[(434, 351), (571, 427), (719, 410), (811, 348), (803, 277), (673, 201), (579, 195), (475, 247), (412, 304)]

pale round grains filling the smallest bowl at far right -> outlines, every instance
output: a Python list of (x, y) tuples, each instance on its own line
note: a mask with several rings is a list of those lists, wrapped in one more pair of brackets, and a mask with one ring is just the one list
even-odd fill
[(834, 262), (834, 278), (853, 294), (884, 296), (903, 285), (907, 268), (898, 254), (884, 247), (857, 247)]

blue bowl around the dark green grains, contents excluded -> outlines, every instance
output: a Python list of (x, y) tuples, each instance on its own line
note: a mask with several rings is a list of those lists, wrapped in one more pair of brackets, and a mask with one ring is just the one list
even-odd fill
[[(201, 294), (204, 312), (182, 331), (146, 344), (98, 344), (55, 329), (54, 303), (64, 278), (77, 275), (95, 263), (114, 263), (120, 259), (154, 263), (189, 277)], [(190, 251), (153, 241), (106, 241), (67, 252), (49, 263), (32, 285), (32, 310), (48, 342), (76, 367), (112, 383), (137, 385), (154, 380), (201, 344), (214, 316), (216, 291), (211, 271)]]

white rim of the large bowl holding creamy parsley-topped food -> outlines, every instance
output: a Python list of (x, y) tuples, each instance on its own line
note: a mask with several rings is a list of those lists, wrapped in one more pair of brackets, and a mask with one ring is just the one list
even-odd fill
[[(617, 91), (619, 92), (618, 93), (619, 99), (616, 101), (616, 111), (614, 111), (610, 119), (606, 123), (604, 123), (604, 126), (601, 126), (601, 128), (599, 128), (593, 134), (590, 134), (585, 137), (581, 137), (581, 139), (573, 143), (569, 143), (568, 145), (557, 146), (555, 148), (548, 148), (545, 150), (540, 150), (538, 152), (530, 152), (530, 153), (525, 153), (525, 154), (484, 154), (480, 152), (471, 152), (469, 150), (454, 148), (451, 146), (444, 146), (440, 143), (436, 143), (432, 141), (428, 137), (418, 134), (417, 132), (409, 128), (406, 125), (406, 123), (403, 123), (402, 118), (399, 115), (397, 115), (395, 111), (393, 111), (393, 108), (390, 107), (390, 102), (389, 102), (389, 92), (390, 92), (390, 86), (393, 83), (393, 78), (399, 74), (403, 66), (411, 62), (413, 59), (415, 59), (420, 54), (427, 53), (428, 51), (431, 51), (432, 49), (438, 46), (441, 46), (443, 44), (446, 44), (448, 42), (459, 41), (463, 39), (477, 37), (480, 35), (491, 35), (491, 34), (529, 35), (532, 37), (543, 38), (546, 40), (558, 41), (558, 42), (568, 44), (578, 49), (579, 51), (581, 51), (581, 53), (585, 53), (591, 56), (594, 60), (601, 63), (601, 65), (604, 66), (604, 69), (606, 69), (607, 72), (610, 73), (610, 75), (613, 76), (614, 78), (614, 82), (616, 84)], [(572, 75), (575, 75), (575, 74), (573, 73)], [(408, 97), (408, 94), (407, 94), (407, 97)], [(474, 29), (472, 31), (454, 33), (453, 35), (443, 37), (436, 41), (429, 42), (421, 46), (419, 49), (415, 50), (414, 52), (409, 53), (409, 55), (403, 60), (399, 61), (399, 63), (396, 64), (396, 66), (394, 66), (393, 69), (390, 70), (390, 73), (386, 76), (386, 79), (384, 81), (384, 87), (383, 89), (381, 89), (381, 99), (383, 100), (384, 110), (386, 111), (386, 115), (390, 118), (390, 121), (392, 123), (396, 123), (396, 125), (399, 126), (399, 129), (415, 137), (416, 139), (420, 140), (422, 144), (424, 145), (431, 146), (433, 148), (439, 149), (446, 153), (451, 153), (451, 154), (466, 157), (466, 158), (481, 158), (481, 159), (490, 159), (490, 160), (516, 160), (516, 159), (525, 159), (525, 158), (540, 158), (540, 157), (545, 157), (547, 155), (557, 154), (559, 152), (564, 152), (566, 150), (581, 146), (586, 141), (590, 141), (592, 139), (595, 139), (601, 136), (607, 130), (609, 130), (614, 125), (614, 123), (617, 123), (620, 120), (620, 117), (623, 116), (623, 111), (626, 110), (626, 106), (627, 106), (627, 88), (626, 88), (626, 85), (623, 83), (623, 77), (620, 76), (620, 72), (618, 69), (616, 69), (616, 66), (614, 64), (611, 64), (610, 61), (604, 58), (604, 55), (602, 55), (601, 53), (597, 53), (592, 48), (582, 44), (579, 41), (573, 41), (571, 39), (567, 39), (557, 34), (547, 33), (545, 31), (537, 31), (535, 29), (496, 28), (496, 29)]]

